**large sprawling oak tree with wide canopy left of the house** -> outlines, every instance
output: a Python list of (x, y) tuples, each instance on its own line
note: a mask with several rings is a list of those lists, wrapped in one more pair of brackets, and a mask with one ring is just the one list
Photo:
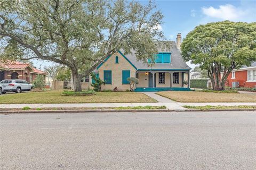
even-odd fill
[(153, 59), (164, 38), (157, 29), (162, 18), (151, 2), (1, 0), (0, 57), (66, 65), (74, 90), (81, 91), (80, 74), (89, 74), (121, 48), (134, 49), (138, 60)]

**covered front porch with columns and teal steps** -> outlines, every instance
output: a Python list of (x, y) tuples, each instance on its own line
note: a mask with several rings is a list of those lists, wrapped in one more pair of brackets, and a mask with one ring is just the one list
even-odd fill
[(135, 91), (189, 91), (189, 70), (137, 71)]

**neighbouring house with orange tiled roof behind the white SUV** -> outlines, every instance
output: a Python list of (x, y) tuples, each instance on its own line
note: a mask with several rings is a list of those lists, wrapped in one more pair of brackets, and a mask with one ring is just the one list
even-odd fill
[(38, 70), (27, 63), (16, 61), (0, 63), (0, 81), (4, 79), (22, 79), (32, 83), (37, 75), (43, 75), (45, 80), (48, 73)]

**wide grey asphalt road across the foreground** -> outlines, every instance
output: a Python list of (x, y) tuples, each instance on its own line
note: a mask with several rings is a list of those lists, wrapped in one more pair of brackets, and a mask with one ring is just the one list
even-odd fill
[(0, 115), (1, 169), (256, 169), (255, 112)]

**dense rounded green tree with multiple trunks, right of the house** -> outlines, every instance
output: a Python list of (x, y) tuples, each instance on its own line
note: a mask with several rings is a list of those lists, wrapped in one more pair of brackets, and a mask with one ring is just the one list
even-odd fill
[(232, 70), (256, 61), (256, 22), (198, 25), (183, 40), (181, 52), (185, 61), (207, 70), (214, 90), (223, 90)]

